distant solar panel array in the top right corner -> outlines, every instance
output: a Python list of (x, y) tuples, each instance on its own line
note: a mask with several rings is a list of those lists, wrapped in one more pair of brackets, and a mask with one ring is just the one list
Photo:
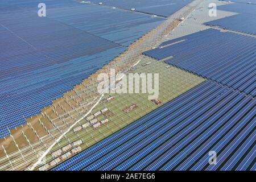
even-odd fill
[(218, 6), (217, 10), (233, 11), (239, 14), (213, 20), (204, 24), (220, 26), (229, 30), (246, 32), (248, 34), (256, 35), (255, 5), (249, 5), (246, 3), (232, 3), (229, 5)]

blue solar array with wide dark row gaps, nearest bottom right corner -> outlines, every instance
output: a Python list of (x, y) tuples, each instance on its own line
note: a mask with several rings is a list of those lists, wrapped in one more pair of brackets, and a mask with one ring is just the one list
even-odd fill
[(208, 80), (53, 170), (255, 170), (255, 104)]

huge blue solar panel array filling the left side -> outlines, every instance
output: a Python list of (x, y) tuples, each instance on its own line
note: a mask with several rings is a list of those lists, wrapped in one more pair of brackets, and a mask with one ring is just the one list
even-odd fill
[(40, 2), (0, 2), (0, 138), (163, 20), (70, 0), (39, 17)]

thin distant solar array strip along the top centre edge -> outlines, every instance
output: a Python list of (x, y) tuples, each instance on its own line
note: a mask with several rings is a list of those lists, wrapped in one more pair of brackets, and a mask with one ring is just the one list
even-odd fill
[(92, 0), (91, 2), (102, 2), (103, 5), (121, 7), (127, 10), (134, 8), (136, 11), (167, 17), (190, 3), (191, 0)]

